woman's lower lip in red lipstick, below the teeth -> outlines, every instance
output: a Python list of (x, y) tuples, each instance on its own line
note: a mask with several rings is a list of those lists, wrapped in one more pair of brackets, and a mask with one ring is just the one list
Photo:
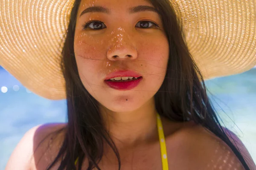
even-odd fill
[(131, 90), (135, 88), (137, 85), (139, 85), (140, 81), (142, 80), (142, 77), (136, 79), (136, 80), (131, 80), (127, 82), (111, 82), (105, 80), (105, 83), (116, 90)]

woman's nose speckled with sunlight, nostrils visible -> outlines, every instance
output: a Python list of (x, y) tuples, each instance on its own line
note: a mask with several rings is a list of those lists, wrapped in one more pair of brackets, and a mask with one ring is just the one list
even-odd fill
[(128, 35), (125, 37), (124, 34), (119, 34), (113, 38), (107, 57), (110, 60), (136, 59), (137, 49), (132, 44)]

